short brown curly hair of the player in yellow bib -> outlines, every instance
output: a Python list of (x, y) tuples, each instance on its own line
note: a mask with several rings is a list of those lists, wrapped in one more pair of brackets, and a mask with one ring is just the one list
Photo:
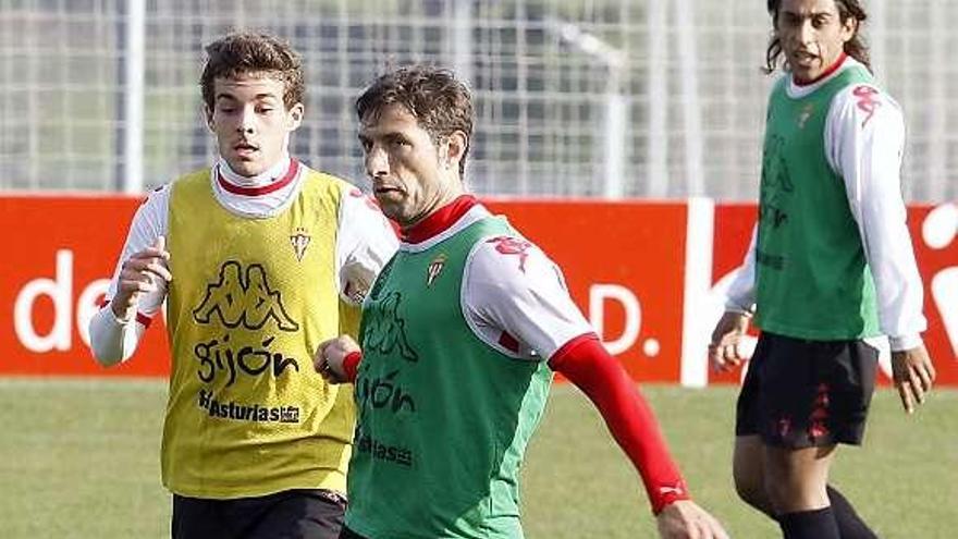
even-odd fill
[(269, 34), (238, 32), (217, 39), (206, 47), (207, 61), (199, 77), (202, 101), (213, 109), (213, 83), (218, 77), (234, 78), (257, 74), (283, 83), (283, 105), (286, 109), (303, 102), (306, 85), (303, 82), (303, 62), (290, 44)]

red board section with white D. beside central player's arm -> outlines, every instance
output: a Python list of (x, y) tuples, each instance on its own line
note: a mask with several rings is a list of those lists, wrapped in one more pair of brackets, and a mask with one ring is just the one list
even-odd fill
[(674, 382), (681, 356), (684, 203), (503, 201), (562, 269), (573, 299), (636, 379)]

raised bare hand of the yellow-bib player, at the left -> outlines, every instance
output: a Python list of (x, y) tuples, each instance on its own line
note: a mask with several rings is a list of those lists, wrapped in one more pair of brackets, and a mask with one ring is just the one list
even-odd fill
[(152, 245), (134, 253), (123, 262), (116, 295), (110, 301), (110, 308), (118, 320), (132, 320), (136, 316), (139, 297), (156, 291), (159, 281), (170, 282), (173, 279), (167, 265), (170, 253), (165, 243), (167, 238), (159, 236)]

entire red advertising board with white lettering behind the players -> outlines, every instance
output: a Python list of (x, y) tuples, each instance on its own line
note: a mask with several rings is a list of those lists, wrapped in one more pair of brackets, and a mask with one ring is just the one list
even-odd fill
[[(573, 298), (636, 379), (737, 381), (737, 372), (703, 371), (703, 343), (717, 311), (702, 309), (709, 302), (700, 296), (713, 299), (740, 264), (753, 205), (488, 204), (562, 267)], [(0, 264), (0, 375), (169, 372), (161, 317), (136, 355), (118, 368), (99, 367), (87, 347), (85, 328), (137, 205), (125, 197), (0, 197), (0, 248), (7, 255)], [(925, 343), (939, 382), (958, 385), (958, 208), (912, 207), (909, 223), (925, 283)], [(701, 234), (703, 226), (711, 233)]]

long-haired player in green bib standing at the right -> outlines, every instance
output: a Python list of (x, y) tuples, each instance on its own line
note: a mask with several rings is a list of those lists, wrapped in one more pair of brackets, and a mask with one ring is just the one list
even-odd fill
[(859, 37), (858, 0), (769, 0), (759, 222), (710, 352), (721, 370), (761, 329), (738, 400), (739, 495), (786, 538), (873, 538), (827, 483), (838, 443), (862, 441), (887, 335), (908, 413), (935, 371), (921, 340), (922, 282), (900, 195), (905, 127)]

